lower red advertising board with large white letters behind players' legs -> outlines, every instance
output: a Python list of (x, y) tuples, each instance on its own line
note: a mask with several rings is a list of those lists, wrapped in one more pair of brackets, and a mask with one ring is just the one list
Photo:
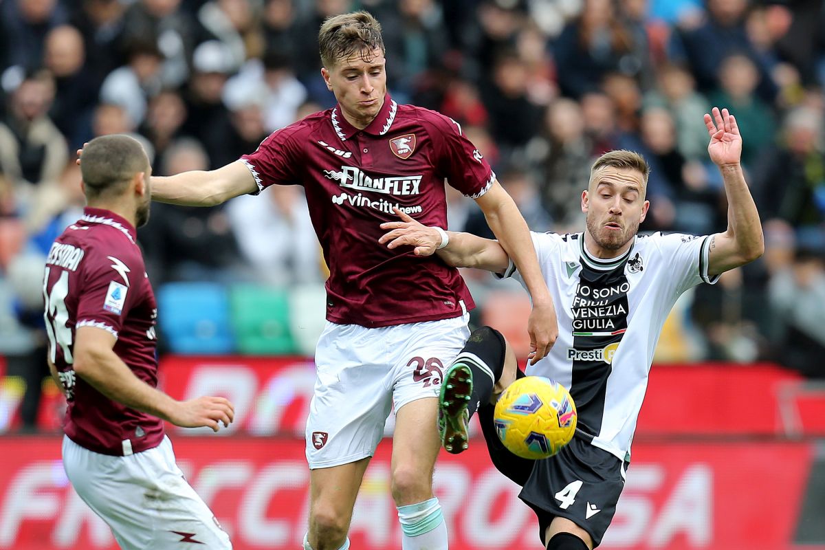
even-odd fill
[[(309, 473), (297, 440), (181, 438), (178, 463), (236, 550), (300, 548)], [(116, 548), (68, 486), (59, 438), (0, 439), (0, 548)], [(636, 444), (614, 524), (601, 548), (791, 550), (813, 444)], [(540, 548), (517, 487), (483, 445), (443, 454), (436, 472), (451, 550)], [(370, 464), (352, 548), (401, 548), (389, 497), (389, 444)], [(813, 546), (806, 546), (813, 550)], [(825, 547), (819, 547), (825, 548)]]

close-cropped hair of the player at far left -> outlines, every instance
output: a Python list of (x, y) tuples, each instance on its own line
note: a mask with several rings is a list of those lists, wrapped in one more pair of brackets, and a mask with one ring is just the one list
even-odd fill
[(80, 157), (87, 199), (118, 195), (138, 172), (148, 171), (148, 158), (137, 139), (124, 134), (92, 139)]

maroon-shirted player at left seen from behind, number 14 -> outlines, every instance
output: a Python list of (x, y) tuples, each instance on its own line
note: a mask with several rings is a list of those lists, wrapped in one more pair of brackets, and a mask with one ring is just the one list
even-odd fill
[(224, 397), (179, 402), (156, 389), (158, 308), (135, 243), (149, 216), (148, 157), (125, 135), (82, 153), (88, 205), (52, 245), (43, 282), (49, 367), (68, 401), (66, 474), (120, 548), (232, 548), (163, 434), (163, 420), (218, 431), (234, 411)]

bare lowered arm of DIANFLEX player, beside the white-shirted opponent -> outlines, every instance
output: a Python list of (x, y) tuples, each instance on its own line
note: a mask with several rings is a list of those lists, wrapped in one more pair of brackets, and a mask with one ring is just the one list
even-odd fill
[(475, 202), (482, 209), (484, 218), (493, 229), (498, 242), (516, 264), (521, 280), (530, 292), (533, 311), (527, 321), (531, 348), (528, 357), (530, 364), (535, 364), (553, 347), (559, 336), (559, 322), (556, 320), (556, 310), (547, 283), (541, 275), (530, 229), (527, 228), (527, 223), (515, 201), (498, 181), (493, 181), (490, 189)]

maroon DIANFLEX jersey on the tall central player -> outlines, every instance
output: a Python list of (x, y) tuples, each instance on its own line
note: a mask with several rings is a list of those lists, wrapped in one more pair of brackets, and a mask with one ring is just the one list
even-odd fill
[(364, 327), (460, 316), (474, 308), (458, 270), (378, 243), (393, 208), (446, 228), (445, 179), (478, 198), (495, 175), (454, 120), (387, 95), (363, 130), (341, 106), (309, 115), (243, 155), (258, 188), (301, 185), (329, 266), (327, 319)]

